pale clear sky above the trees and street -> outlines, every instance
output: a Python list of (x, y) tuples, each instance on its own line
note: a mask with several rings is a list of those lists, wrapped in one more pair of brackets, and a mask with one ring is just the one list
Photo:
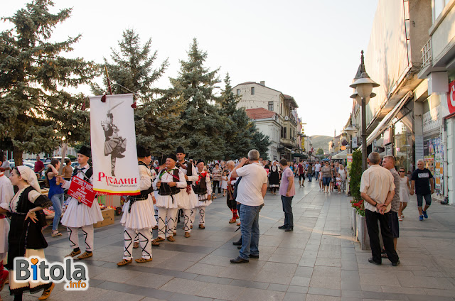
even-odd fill
[[(12, 16), (28, 1), (5, 1)], [(55, 0), (52, 12), (73, 7), (52, 40), (82, 34), (71, 57), (103, 62), (118, 48), (122, 31), (134, 29), (158, 51), (155, 67), (169, 67), (156, 87), (169, 87), (193, 38), (208, 53), (206, 67), (229, 72), (232, 86), (265, 81), (294, 97), (306, 135), (338, 135), (352, 110), (352, 83), (370, 38), (378, 0)], [(0, 23), (0, 31), (10, 28)], [(223, 84), (220, 84), (223, 88)], [(80, 92), (90, 94), (87, 87)]]

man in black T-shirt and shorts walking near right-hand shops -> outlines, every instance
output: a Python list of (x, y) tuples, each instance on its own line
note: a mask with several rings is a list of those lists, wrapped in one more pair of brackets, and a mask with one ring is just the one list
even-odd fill
[[(424, 218), (428, 219), (427, 210), (429, 205), (432, 204), (432, 194), (434, 193), (434, 181), (432, 172), (424, 168), (424, 160), (417, 160), (417, 170), (414, 170), (411, 176), (411, 195), (417, 195), (417, 208), (419, 209), (419, 220), (423, 221)], [(430, 190), (431, 186), (431, 190)], [(425, 207), (422, 205), (425, 199)]]

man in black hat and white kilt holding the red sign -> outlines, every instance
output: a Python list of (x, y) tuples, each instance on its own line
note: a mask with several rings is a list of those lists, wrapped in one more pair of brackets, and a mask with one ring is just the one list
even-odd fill
[[(79, 177), (86, 182), (92, 183), (93, 168), (88, 165), (88, 160), (92, 154), (90, 148), (82, 146), (77, 152), (77, 162), (79, 166), (75, 168), (73, 177)], [(65, 189), (70, 188), (71, 181), (63, 180), (62, 187)], [(98, 206), (96, 199), (93, 201), (92, 207), (82, 204), (74, 197), (69, 197), (68, 207), (62, 217), (62, 224), (66, 226), (68, 236), (70, 239), (70, 247), (73, 251), (65, 257), (74, 257), (80, 254), (78, 230), (82, 229), (85, 236), (85, 252), (77, 256), (79, 259), (85, 259), (93, 256), (93, 224), (98, 221), (104, 220), (101, 214), (100, 206)]]

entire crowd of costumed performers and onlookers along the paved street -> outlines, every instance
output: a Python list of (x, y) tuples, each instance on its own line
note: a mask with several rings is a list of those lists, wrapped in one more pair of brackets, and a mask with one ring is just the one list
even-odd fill
[[(48, 195), (41, 193), (38, 185), (37, 170), (21, 165), (13, 169), (0, 168), (0, 287), (9, 278), (11, 295), (21, 300), (23, 292), (43, 290), (39, 300), (50, 296), (54, 284), (18, 283), (14, 278), (14, 258), (38, 256), (45, 258), (44, 248), (48, 243), (42, 230), (46, 226), (43, 209), (53, 207), (52, 236), (61, 236), (58, 225), (61, 222), (68, 231), (71, 252), (65, 257), (78, 259), (90, 258), (94, 250), (93, 225), (102, 221), (99, 206), (81, 205), (80, 200), (68, 197), (65, 202), (65, 190), (70, 187), (72, 177), (79, 177), (92, 182), (93, 170), (88, 164), (91, 150), (82, 146), (77, 153), (79, 166), (71, 175), (68, 174), (70, 163), (65, 173), (60, 173), (60, 162), (52, 160), (45, 170), (45, 182), (49, 187)], [(0, 153), (0, 158), (4, 155)], [(295, 195), (297, 178), (299, 187), (304, 181), (311, 182), (315, 177), (321, 183), (320, 191), (338, 193), (346, 189), (346, 169), (340, 163), (325, 160), (299, 163), (286, 159), (277, 161), (262, 160), (259, 152), (252, 150), (247, 158), (227, 162), (192, 160), (186, 157), (182, 147), (175, 153), (163, 155), (152, 161), (151, 153), (143, 146), (137, 146), (140, 194), (128, 196), (122, 207), (124, 226), (124, 251), (122, 261), (117, 266), (132, 263), (133, 248), (141, 248), (141, 258), (137, 263), (152, 261), (152, 246), (159, 246), (162, 241), (176, 241), (178, 222), (183, 218), (183, 237), (191, 237), (193, 225), (205, 229), (205, 212), (216, 197), (225, 197), (227, 207), (232, 212), (230, 224), (241, 218), (242, 236), (233, 242), (240, 249), (239, 256), (231, 263), (247, 263), (250, 258), (259, 258), (259, 211), (264, 206), (267, 190), (272, 195), (279, 193), (282, 199), (284, 224), (279, 229), (290, 232), (294, 230), (292, 199)], [(424, 168), (423, 160), (417, 163), (418, 169), (411, 179), (406, 177), (406, 170), (395, 170), (395, 158), (385, 156), (380, 165), (378, 153), (368, 156), (369, 168), (365, 170), (360, 182), (360, 193), (365, 200), (365, 217), (373, 257), (370, 263), (381, 264), (382, 258), (389, 258), (392, 266), (400, 264), (397, 256), (397, 239), (399, 221), (404, 218), (403, 210), (409, 202), (410, 195), (417, 194), (419, 219), (428, 218), (428, 209), (434, 192), (432, 174)], [(38, 162), (38, 161), (37, 161)], [(41, 161), (39, 161), (41, 162)], [(39, 164), (39, 163), (38, 163)], [(41, 167), (36, 166), (38, 172)], [(6, 177), (6, 172), (11, 171)], [(16, 193), (13, 187), (16, 186)], [(423, 199), (425, 206), (423, 207)], [(63, 203), (67, 204), (64, 213)], [(63, 215), (63, 216), (62, 216)], [(155, 218), (157, 215), (157, 219)], [(5, 217), (11, 217), (11, 223)], [(61, 217), (61, 221), (60, 221)], [(198, 223), (196, 224), (196, 217)], [(381, 228), (383, 246), (380, 246), (378, 222)], [(154, 238), (154, 232), (157, 235)], [(84, 243), (79, 243), (78, 231), (84, 236)], [(85, 248), (84, 253), (81, 247)], [(82, 253), (82, 254), (81, 254)], [(7, 255), (6, 255), (7, 254)], [(4, 269), (3, 260), (7, 258)]]

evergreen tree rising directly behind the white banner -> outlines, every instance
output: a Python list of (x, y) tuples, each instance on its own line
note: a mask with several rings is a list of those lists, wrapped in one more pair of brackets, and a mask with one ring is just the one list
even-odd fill
[[(112, 81), (112, 93), (134, 92), (138, 103), (134, 110), (137, 143), (148, 146), (154, 155), (175, 151), (179, 143), (184, 143), (176, 139), (176, 134), (183, 124), (180, 116), (185, 103), (179, 102), (168, 91), (153, 87), (154, 82), (164, 75), (168, 60), (154, 69), (157, 52), (151, 51), (151, 39), (141, 45), (139, 35), (132, 29), (122, 33), (119, 50), (111, 50), (112, 63), (105, 58), (105, 65)], [(92, 90), (95, 94), (107, 93), (107, 79), (105, 87), (93, 84)]]

